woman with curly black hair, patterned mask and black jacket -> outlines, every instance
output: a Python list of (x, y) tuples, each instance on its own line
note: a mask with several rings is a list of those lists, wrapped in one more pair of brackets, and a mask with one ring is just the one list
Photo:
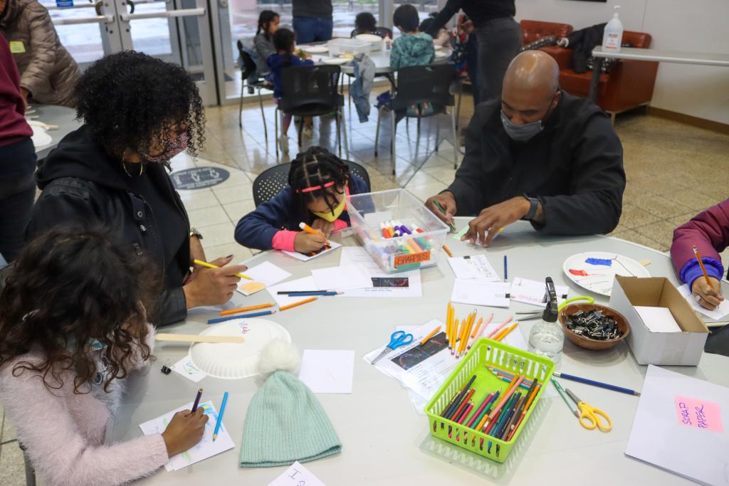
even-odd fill
[[(147, 271), (163, 282), (157, 325), (181, 321), (187, 309), (220, 305), (233, 297), (243, 265), (218, 269), (205, 261), (202, 235), (190, 228), (187, 212), (165, 167), (187, 149), (203, 144), (205, 114), (198, 88), (183, 68), (134, 51), (96, 61), (75, 91), (84, 125), (69, 133), (39, 166), (42, 189), (26, 238), (59, 223), (104, 224), (114, 243), (146, 254)], [(223, 267), (232, 255), (214, 260)]]

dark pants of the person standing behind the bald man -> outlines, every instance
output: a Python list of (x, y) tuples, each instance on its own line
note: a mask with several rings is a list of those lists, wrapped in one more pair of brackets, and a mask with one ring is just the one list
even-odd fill
[(480, 103), (501, 98), (504, 74), (521, 47), (521, 27), (512, 17), (488, 20), (477, 31)]

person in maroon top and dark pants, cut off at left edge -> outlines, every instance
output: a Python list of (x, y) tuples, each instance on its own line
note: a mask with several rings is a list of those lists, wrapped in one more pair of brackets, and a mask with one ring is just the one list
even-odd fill
[(20, 73), (0, 34), (0, 255), (7, 262), (23, 248), (36, 195), (36, 150), (25, 112)]

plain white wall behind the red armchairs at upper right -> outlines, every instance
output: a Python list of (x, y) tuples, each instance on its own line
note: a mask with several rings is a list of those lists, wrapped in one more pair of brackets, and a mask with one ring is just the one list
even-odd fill
[[(654, 49), (729, 54), (727, 0), (516, 0), (516, 14), (579, 29), (607, 22), (616, 4), (623, 28), (651, 34)], [(661, 63), (651, 104), (729, 125), (729, 68)]]

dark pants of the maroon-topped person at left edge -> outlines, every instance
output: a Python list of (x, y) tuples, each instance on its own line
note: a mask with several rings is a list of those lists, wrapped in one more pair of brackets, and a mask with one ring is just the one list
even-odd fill
[(0, 146), (0, 254), (12, 262), (23, 249), (36, 195), (36, 151), (30, 138)]

